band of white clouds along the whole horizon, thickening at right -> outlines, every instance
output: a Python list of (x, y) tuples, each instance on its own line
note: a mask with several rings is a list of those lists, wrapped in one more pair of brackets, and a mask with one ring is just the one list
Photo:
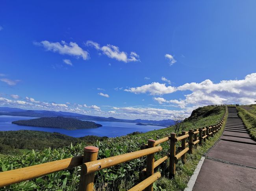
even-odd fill
[[(161, 80), (169, 81), (162, 77)], [(103, 90), (102, 88), (97, 88)], [(0, 106), (11, 106), (20, 108), (33, 109), (48, 109), (54, 111), (69, 111), (81, 114), (99, 115), (99, 116), (115, 116), (126, 118), (150, 118), (150, 119), (164, 119), (172, 118), (174, 114), (182, 113), (189, 116), (193, 109), (197, 107), (206, 106), (210, 104), (253, 104), (256, 99), (256, 73), (251, 73), (241, 80), (222, 80), (219, 83), (214, 83), (207, 79), (200, 83), (191, 82), (180, 86), (166, 86), (159, 82), (152, 82), (138, 87), (131, 87), (124, 89), (125, 92), (134, 94), (148, 94), (152, 96), (154, 103), (158, 103), (155, 107), (143, 106), (101, 106), (107, 109), (101, 109), (96, 105), (87, 106), (86, 104), (57, 104), (55, 102), (42, 102), (34, 98), (26, 96), (23, 100), (17, 100), (19, 95), (9, 95), (13, 98), (5, 98), (0, 96)], [(184, 95), (184, 98), (168, 100), (164, 98), (165, 95), (170, 95), (176, 91), (190, 93)], [(109, 98), (108, 94), (98, 93), (100, 96)], [(162, 109), (160, 106), (173, 106), (177, 109)]]

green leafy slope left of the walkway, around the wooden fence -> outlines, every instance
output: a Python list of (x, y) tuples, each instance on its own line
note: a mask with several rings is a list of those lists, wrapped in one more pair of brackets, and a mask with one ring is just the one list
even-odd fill
[[(205, 115), (206, 111), (210, 112)], [(193, 113), (193, 117), (186, 120), (186, 130), (216, 124), (223, 114), (224, 107), (222, 109), (220, 109), (220, 107), (199, 108), (196, 113)], [(194, 117), (194, 115), (197, 116)], [(173, 127), (169, 127), (139, 135), (109, 138), (102, 142), (97, 141), (93, 145), (100, 149), (98, 158), (106, 158), (139, 150), (140, 146), (147, 143), (148, 139), (153, 138), (156, 140), (163, 138), (170, 135), (172, 132)], [(166, 170), (169, 164), (168, 161), (161, 164), (157, 170), (161, 172), (163, 177), (156, 182), (155, 189), (159, 190), (161, 186), (161, 188), (165, 190), (183, 190), (186, 187), (189, 177), (193, 174), (202, 154), (214, 144), (220, 135), (221, 133), (210, 138), (210, 141), (207, 141), (202, 147), (199, 146), (195, 151), (195, 154), (187, 154), (187, 163), (185, 165), (178, 162), (176, 166), (177, 174), (174, 180), (169, 180), (164, 176), (166, 175), (167, 177), (168, 175), (168, 170)], [(76, 144), (76, 146), (59, 149), (45, 149), (41, 152), (28, 152), (24, 153), (22, 156), (8, 156), (0, 159), (0, 170), (31, 166), (41, 164), (42, 162), (82, 155), (84, 146), (86, 146), (86, 144), (82, 143)], [(160, 153), (156, 153), (156, 160), (169, 152), (168, 142), (161, 144), (161, 146), (163, 147), (163, 150)], [(96, 190), (126, 190), (134, 186), (134, 184), (139, 182), (138, 173), (145, 168), (145, 163), (146, 157), (143, 157), (97, 172), (95, 178)], [(15, 184), (0, 190), (19, 190), (24, 189), (24, 187), (26, 187), (26, 190), (29, 190), (30, 188), (32, 190), (75, 190), (79, 183), (80, 169), (80, 167), (76, 167), (74, 169), (52, 173), (48, 176)]]

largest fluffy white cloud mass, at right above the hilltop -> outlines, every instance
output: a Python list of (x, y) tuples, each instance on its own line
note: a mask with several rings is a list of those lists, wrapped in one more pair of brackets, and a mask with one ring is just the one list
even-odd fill
[(185, 95), (185, 99), (166, 100), (156, 97), (154, 100), (160, 104), (176, 104), (181, 108), (192, 106), (205, 106), (210, 104), (253, 104), (256, 98), (256, 73), (245, 76), (243, 80), (222, 80), (213, 83), (207, 79), (203, 82), (186, 83), (178, 87), (165, 86), (158, 82), (126, 89), (132, 93), (150, 93), (151, 95), (163, 95), (175, 91), (191, 91)]

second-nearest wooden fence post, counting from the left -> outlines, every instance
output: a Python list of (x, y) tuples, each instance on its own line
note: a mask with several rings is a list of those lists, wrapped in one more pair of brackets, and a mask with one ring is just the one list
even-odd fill
[[(148, 148), (155, 147), (156, 141), (153, 139), (148, 139)], [(146, 176), (147, 178), (151, 175), (154, 175), (154, 162), (155, 162), (155, 153), (147, 155), (147, 167), (146, 167)], [(153, 184), (150, 184), (145, 191), (153, 191)]]

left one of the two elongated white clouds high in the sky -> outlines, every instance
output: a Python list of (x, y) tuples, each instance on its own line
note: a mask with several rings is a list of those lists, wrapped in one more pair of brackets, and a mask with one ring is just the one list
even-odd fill
[(70, 42), (69, 44), (65, 41), (59, 42), (49, 42), (47, 40), (41, 42), (34, 42), (35, 45), (42, 45), (46, 51), (57, 52), (61, 55), (76, 56), (77, 58), (83, 58), (83, 60), (89, 59), (89, 53), (83, 50), (75, 42)]

